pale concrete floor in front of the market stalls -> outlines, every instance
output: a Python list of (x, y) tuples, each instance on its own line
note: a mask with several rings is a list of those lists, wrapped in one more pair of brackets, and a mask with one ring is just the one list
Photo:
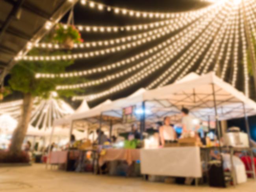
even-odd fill
[(141, 178), (45, 170), (42, 164), (0, 168), (0, 192), (255, 192), (256, 181), (227, 189), (150, 183)]

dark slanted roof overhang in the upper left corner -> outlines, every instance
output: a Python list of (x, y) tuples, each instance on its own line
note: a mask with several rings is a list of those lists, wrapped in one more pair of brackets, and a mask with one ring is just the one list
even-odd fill
[(76, 2), (0, 0), (0, 83), (15, 64), (14, 57), (26, 54)]

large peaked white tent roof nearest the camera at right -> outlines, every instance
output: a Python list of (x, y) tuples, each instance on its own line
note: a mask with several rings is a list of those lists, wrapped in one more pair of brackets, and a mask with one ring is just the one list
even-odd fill
[(149, 90), (144, 99), (157, 99), (161, 105), (173, 111), (175, 108), (186, 107), (194, 116), (204, 120), (215, 119), (213, 89), (220, 120), (243, 117), (243, 103), (247, 115), (256, 114), (254, 101), (218, 78), (213, 72), (190, 81), (179, 81), (160, 89)]

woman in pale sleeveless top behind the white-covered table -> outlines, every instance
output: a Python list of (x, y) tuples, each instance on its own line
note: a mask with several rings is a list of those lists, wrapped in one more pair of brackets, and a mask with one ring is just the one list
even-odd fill
[(176, 140), (177, 135), (172, 126), (170, 126), (171, 119), (166, 116), (163, 119), (163, 126), (159, 128), (161, 146), (165, 146), (167, 143), (171, 143)]

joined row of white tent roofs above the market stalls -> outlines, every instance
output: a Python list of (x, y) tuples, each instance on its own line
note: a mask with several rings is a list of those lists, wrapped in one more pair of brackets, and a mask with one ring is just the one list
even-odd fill
[(176, 83), (159, 89), (140, 89), (127, 98), (77, 114), (72, 120), (90, 118), (101, 113), (121, 117), (124, 107), (132, 105), (140, 107), (143, 101), (146, 101), (146, 108), (153, 113), (148, 115), (148, 118), (177, 114), (182, 107), (186, 107), (194, 116), (202, 120), (214, 120), (213, 87), (219, 120), (243, 117), (243, 103), (247, 115), (256, 114), (254, 101), (210, 72), (203, 76), (192, 73)]

